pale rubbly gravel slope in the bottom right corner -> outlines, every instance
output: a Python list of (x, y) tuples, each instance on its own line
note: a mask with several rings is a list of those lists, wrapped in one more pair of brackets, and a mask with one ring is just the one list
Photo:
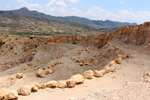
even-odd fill
[(127, 82), (121, 89), (103, 90), (73, 100), (150, 100), (150, 84)]

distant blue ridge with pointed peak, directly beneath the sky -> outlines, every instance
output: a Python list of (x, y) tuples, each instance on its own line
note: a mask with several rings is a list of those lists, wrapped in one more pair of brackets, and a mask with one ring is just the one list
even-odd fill
[(77, 22), (80, 24), (85, 24), (89, 26), (93, 26), (95, 28), (118, 28), (124, 25), (137, 25), (137, 23), (128, 23), (128, 22), (117, 22), (117, 21), (110, 21), (110, 20), (90, 20), (87, 18), (76, 17), (76, 16), (68, 16), (68, 17), (55, 17), (51, 15), (46, 15), (44, 13), (39, 13), (37, 11), (30, 11), (28, 8), (23, 7), (18, 10), (12, 10), (13, 13), (25, 16), (32, 16), (38, 18), (46, 18), (64, 22)]

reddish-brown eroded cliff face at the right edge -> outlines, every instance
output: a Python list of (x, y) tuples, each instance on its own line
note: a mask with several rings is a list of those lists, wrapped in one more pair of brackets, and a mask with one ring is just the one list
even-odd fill
[(150, 43), (150, 22), (137, 26), (123, 26), (110, 34), (110, 40), (127, 44), (143, 45)]

